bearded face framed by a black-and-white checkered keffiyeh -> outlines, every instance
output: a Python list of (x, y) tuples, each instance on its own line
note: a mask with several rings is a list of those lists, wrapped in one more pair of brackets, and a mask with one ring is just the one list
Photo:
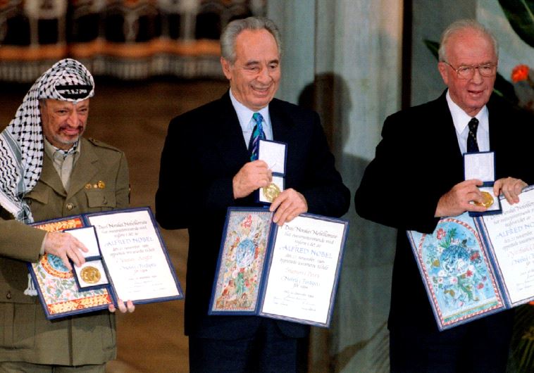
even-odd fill
[(68, 150), (85, 131), (89, 115), (89, 99), (76, 104), (46, 99), (41, 101), (39, 110), (44, 137), (56, 148)]

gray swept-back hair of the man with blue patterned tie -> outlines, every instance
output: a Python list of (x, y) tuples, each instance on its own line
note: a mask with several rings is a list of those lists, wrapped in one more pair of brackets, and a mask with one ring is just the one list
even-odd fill
[(240, 20), (232, 20), (228, 23), (221, 34), (221, 56), (230, 62), (235, 63), (235, 39), (244, 30), (267, 30), (275, 38), (278, 46), (278, 55), (282, 56), (282, 43), (280, 42), (280, 31), (275, 23), (265, 17), (249, 17)]

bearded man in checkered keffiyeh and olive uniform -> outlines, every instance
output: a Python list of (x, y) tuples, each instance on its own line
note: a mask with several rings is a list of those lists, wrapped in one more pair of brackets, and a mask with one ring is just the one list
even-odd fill
[[(115, 308), (46, 320), (27, 262), (47, 254), (70, 269), (87, 251), (68, 233), (30, 222), (128, 207), (125, 155), (82, 134), (94, 81), (73, 59), (54, 64), (27, 92), (0, 133), (0, 371), (104, 372), (116, 357)], [(120, 310), (133, 305), (119, 302)]]

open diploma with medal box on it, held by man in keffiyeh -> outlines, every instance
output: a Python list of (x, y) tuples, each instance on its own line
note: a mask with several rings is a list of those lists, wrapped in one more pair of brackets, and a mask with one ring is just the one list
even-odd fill
[[(28, 263), (48, 319), (105, 310), (118, 299), (134, 304), (182, 299), (173, 263), (150, 208), (88, 213), (36, 222), (73, 234), (89, 250), (73, 270), (55, 255)], [(72, 263), (71, 263), (72, 264)]]

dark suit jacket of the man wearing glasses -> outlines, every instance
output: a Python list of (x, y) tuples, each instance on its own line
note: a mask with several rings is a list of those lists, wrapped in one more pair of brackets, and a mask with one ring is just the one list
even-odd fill
[[(490, 99), (488, 110), (496, 178), (511, 176), (532, 184), (534, 167), (529, 145), (532, 119), (495, 97)], [(405, 231), (433, 232), (438, 220), (434, 217), (437, 201), (464, 180), (463, 158), (445, 93), (435, 101), (388, 117), (382, 137), (375, 159), (356, 191), (356, 212), (368, 220), (399, 229), (390, 329), (404, 323), (437, 331)]]

